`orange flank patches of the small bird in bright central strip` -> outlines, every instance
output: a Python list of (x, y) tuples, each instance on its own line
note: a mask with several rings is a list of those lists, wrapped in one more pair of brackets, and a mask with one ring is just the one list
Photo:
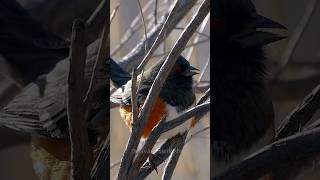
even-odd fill
[[(132, 128), (132, 108), (128, 105), (123, 105), (120, 107), (120, 116), (125, 121), (126, 125), (129, 128)], [(140, 110), (140, 108), (139, 108)], [(152, 131), (153, 127), (156, 126), (161, 118), (166, 115), (166, 104), (165, 102), (158, 97), (154, 108), (151, 111), (150, 117), (143, 129), (142, 137), (147, 137)]]

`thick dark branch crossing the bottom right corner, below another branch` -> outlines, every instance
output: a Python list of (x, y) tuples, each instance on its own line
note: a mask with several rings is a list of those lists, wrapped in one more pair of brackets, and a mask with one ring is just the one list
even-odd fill
[(320, 151), (320, 128), (298, 133), (265, 146), (213, 180), (254, 180), (283, 164)]

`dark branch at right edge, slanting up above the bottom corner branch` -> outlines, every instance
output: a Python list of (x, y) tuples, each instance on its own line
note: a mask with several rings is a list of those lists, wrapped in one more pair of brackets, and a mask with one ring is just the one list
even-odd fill
[(287, 116), (276, 132), (276, 139), (292, 135), (302, 129), (320, 108), (320, 85), (318, 85), (293, 112)]

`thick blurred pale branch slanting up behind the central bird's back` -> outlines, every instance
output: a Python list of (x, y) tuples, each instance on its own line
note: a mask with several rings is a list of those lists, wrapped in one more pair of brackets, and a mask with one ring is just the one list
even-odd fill
[[(166, 21), (168, 25), (164, 27), (165, 35), (160, 38), (161, 41), (164, 40), (174, 27), (180, 22), (181, 19), (189, 12), (189, 10), (196, 4), (196, 0), (179, 0), (177, 3), (176, 13), (171, 13), (172, 17)], [(148, 33), (147, 44), (150, 46), (155, 42), (155, 39), (158, 37), (160, 30), (162, 29), (162, 25), (155, 26)], [(145, 41), (141, 41), (132, 51), (123, 57), (123, 60), (119, 62), (119, 64), (126, 70), (132, 69), (135, 67), (141, 60), (143, 56), (146, 54), (144, 51), (144, 43)], [(155, 44), (154, 48), (157, 48), (160, 43)], [(149, 47), (148, 47), (149, 48)], [(139, 71), (138, 71), (139, 72)]]

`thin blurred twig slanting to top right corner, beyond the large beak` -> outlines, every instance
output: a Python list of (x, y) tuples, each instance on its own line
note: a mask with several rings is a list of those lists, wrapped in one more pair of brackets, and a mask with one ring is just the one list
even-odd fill
[(309, 1), (308, 5), (306, 7), (306, 10), (305, 10), (304, 16), (302, 17), (299, 25), (297, 26), (292, 37), (290, 38), (287, 49), (283, 53), (283, 56), (280, 60), (280, 65), (277, 68), (277, 70), (275, 71), (273, 79), (277, 79), (280, 76), (280, 74), (282, 73), (282, 71), (284, 70), (284, 68), (288, 64), (288, 62), (291, 60), (292, 55), (295, 52), (298, 43), (301, 41), (301, 38), (302, 38), (304, 31), (306, 30), (307, 26), (309, 25), (312, 16), (316, 12), (315, 10), (318, 5), (318, 2), (319, 2), (319, 0), (310, 0)]

